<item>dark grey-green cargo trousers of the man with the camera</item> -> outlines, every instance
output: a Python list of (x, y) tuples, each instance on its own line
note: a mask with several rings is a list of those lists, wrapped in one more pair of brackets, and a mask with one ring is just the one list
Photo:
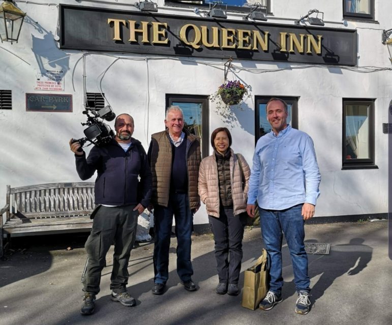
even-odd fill
[(128, 262), (136, 237), (138, 211), (136, 205), (100, 206), (93, 219), (91, 234), (84, 245), (88, 262), (83, 279), (83, 291), (97, 294), (100, 291), (101, 272), (106, 253), (114, 242), (113, 270), (110, 289), (125, 292), (128, 283)]

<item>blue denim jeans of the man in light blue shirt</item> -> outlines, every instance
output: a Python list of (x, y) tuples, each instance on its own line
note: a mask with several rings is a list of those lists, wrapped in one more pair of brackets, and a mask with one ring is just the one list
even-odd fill
[(283, 233), (291, 255), (296, 290), (297, 292), (310, 291), (308, 255), (304, 244), (305, 221), (301, 216), (302, 206), (303, 204), (298, 204), (281, 211), (259, 208), (261, 231), (269, 259), (269, 290), (278, 294), (281, 294), (283, 286)]

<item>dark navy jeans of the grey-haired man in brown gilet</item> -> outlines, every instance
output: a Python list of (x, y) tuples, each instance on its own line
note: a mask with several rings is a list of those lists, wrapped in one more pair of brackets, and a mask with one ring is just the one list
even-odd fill
[(173, 193), (169, 196), (167, 208), (154, 206), (154, 282), (166, 283), (169, 278), (169, 248), (171, 227), (175, 219), (177, 237), (177, 274), (182, 281), (193, 275), (191, 263), (191, 234), (193, 214), (189, 208), (186, 193)]

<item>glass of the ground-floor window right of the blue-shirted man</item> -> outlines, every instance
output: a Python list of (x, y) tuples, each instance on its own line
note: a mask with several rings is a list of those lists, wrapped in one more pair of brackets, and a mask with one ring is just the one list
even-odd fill
[(346, 105), (346, 159), (369, 159), (369, 105)]

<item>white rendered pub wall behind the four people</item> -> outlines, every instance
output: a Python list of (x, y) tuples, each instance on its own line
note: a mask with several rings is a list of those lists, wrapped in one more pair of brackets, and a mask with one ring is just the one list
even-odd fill
[[(71, 0), (62, 3), (78, 5)], [(80, 5), (97, 6), (97, 3), (99, 1), (81, 1)], [(158, 3), (160, 13), (195, 16), (192, 9), (176, 11), (164, 7), (163, 1)], [(298, 96), (298, 127), (313, 138), (322, 175), (316, 217), (387, 212), (387, 135), (382, 133), (382, 123), (388, 122), (392, 72), (359, 71), (366, 66), (391, 68), (387, 48), (381, 43), (381, 31), (392, 28), (389, 17), (392, 3), (376, 0), (378, 23), (348, 21), (347, 27), (342, 23), (340, 0), (275, 0), (272, 3), (275, 19), (268, 22), (293, 24), (290, 19), (297, 19), (317, 8), (324, 12), (324, 20), (329, 21), (325, 27), (356, 28), (359, 68), (234, 60), (232, 67), (247, 68), (248, 71), (234, 69), (228, 78), (240, 79), (250, 85), (252, 97), (245, 101), (242, 110), (233, 109), (230, 123), (225, 122), (217, 114), (215, 104), (210, 103), (210, 132), (227, 126), (232, 132), (233, 150), (242, 153), (251, 164), (255, 144), (254, 96)], [(125, 0), (113, 5), (101, 4), (113, 9), (135, 10), (124, 6)], [(82, 137), (84, 128), (80, 122), (85, 122), (82, 115), (83, 52), (57, 48), (53, 40), (57, 25), (56, 7), (25, 3), (17, 3), (17, 6), (27, 12), (20, 40), (13, 45), (0, 44), (3, 68), (0, 89), (12, 90), (13, 100), (12, 110), (0, 110), (0, 206), (5, 204), (7, 184), (17, 187), (79, 181), (68, 141), (71, 137)], [(230, 19), (242, 19), (239, 14), (228, 15)], [(226, 60), (102, 54), (86, 55), (87, 92), (99, 92), (102, 73), (119, 57), (106, 71), (102, 90), (116, 114), (127, 112), (134, 117), (134, 137), (146, 150), (150, 135), (164, 129), (165, 94), (208, 96), (224, 79)], [(52, 93), (73, 95), (72, 113), (26, 112), (25, 93), (51, 93), (34, 91), (40, 66), (66, 71), (65, 91)], [(376, 99), (375, 163), (378, 169), (342, 170), (342, 98)], [(113, 126), (113, 123), (109, 124)], [(207, 223), (204, 206), (195, 215), (195, 223)]]

